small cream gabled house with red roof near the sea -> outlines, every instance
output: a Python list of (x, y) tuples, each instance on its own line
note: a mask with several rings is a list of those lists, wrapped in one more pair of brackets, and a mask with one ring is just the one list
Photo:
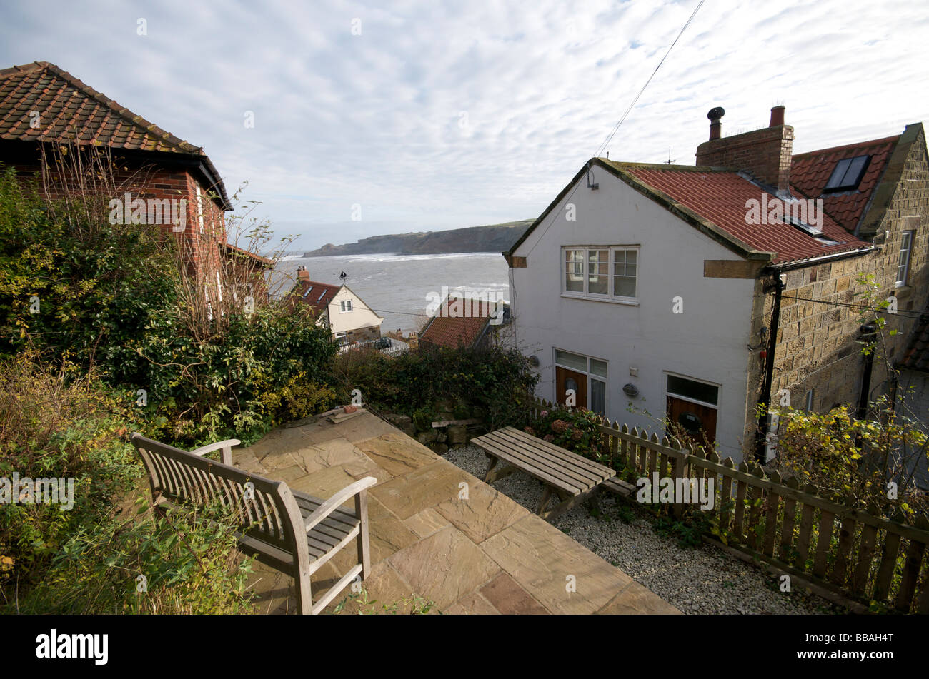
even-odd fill
[(378, 339), (384, 318), (372, 311), (346, 285), (330, 285), (309, 279), (306, 267), (297, 269), (294, 295), (319, 312), (317, 323), (329, 327), (333, 339), (343, 344)]

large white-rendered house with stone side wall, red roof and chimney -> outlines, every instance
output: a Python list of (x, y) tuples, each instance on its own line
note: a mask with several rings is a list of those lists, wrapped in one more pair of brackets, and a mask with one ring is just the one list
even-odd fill
[[(722, 115), (695, 166), (585, 163), (504, 252), (511, 337), (544, 399), (573, 391), (631, 427), (661, 434), (667, 418), (736, 461), (770, 459), (777, 431), (755, 412), (779, 394), (828, 409), (888, 389), (859, 352), (856, 279), (922, 303), (925, 258), (907, 243), (929, 195), (909, 193), (929, 186), (925, 142), (916, 124), (792, 156), (782, 107), (725, 138)], [(905, 336), (910, 321), (889, 322)]]

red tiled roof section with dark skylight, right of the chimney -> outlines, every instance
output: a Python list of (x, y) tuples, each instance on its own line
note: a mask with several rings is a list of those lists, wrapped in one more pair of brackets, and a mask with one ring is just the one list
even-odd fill
[[(849, 232), (854, 232), (874, 189), (881, 182), (883, 170), (899, 139), (900, 135), (888, 136), (858, 144), (798, 153), (793, 156), (791, 163), (791, 190), (806, 198), (821, 198), (823, 210)], [(823, 194), (836, 163), (856, 156), (870, 156), (870, 163), (857, 189)]]

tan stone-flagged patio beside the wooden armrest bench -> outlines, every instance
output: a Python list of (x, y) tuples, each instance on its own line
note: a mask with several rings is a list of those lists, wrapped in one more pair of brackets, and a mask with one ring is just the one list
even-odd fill
[[(232, 456), (239, 468), (322, 498), (353, 480), (377, 478), (368, 495), (372, 574), (363, 585), (377, 609), (405, 602), (398, 612), (407, 612), (418, 596), (434, 602), (430, 612), (447, 614), (680, 612), (371, 413), (274, 429)], [(352, 501), (345, 506), (354, 510)], [(353, 543), (313, 576), (314, 599), (355, 557)], [(250, 586), (259, 612), (295, 611), (290, 577), (256, 561)], [(358, 608), (349, 601), (345, 610)]]

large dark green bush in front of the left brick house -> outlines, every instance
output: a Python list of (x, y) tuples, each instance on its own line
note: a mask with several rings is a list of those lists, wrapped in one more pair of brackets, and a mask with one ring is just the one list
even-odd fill
[(207, 318), (161, 227), (38, 196), (0, 167), (0, 357), (33, 347), (133, 400), (144, 390), (145, 431), (181, 445), (250, 442), (336, 403), (325, 384), (336, 350), (307, 309), (246, 314), (227, 294)]

